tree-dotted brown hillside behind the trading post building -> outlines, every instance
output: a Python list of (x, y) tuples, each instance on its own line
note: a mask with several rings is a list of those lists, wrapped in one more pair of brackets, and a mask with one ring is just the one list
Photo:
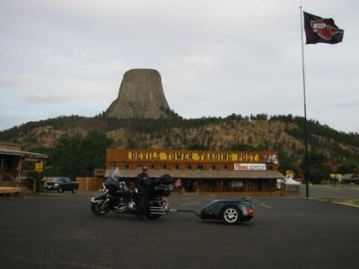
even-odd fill
[[(242, 117), (118, 119), (56, 117), (0, 132), (0, 141), (21, 143), (23, 150), (54, 147), (62, 134), (106, 134), (113, 146), (143, 149), (274, 150), (280, 159), (298, 165), (303, 152), (303, 117), (259, 114)], [(318, 121), (308, 122), (311, 152), (332, 165), (359, 160), (359, 134), (338, 132)], [(357, 163), (356, 163), (357, 165)]]

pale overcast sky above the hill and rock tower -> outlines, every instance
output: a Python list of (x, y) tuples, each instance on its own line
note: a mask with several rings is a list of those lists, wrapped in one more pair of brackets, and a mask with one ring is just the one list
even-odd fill
[(98, 115), (133, 68), (158, 70), (182, 117), (303, 117), (300, 6), (345, 30), (304, 45), (307, 117), (358, 133), (355, 0), (1, 0), (0, 131)]

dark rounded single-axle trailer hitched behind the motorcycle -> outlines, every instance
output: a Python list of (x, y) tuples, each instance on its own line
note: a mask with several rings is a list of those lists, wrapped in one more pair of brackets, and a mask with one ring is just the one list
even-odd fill
[(202, 219), (222, 220), (233, 224), (241, 221), (250, 221), (253, 218), (254, 205), (250, 198), (215, 199), (206, 204), (200, 212)]

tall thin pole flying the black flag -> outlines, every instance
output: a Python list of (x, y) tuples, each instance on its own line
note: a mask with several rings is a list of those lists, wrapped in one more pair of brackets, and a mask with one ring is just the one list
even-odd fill
[[(302, 37), (302, 6), (301, 13), (301, 37)], [(309, 177), (308, 177), (308, 127), (307, 127), (307, 101), (305, 96), (305, 72), (304, 72), (304, 45), (302, 39), (302, 85), (304, 99), (304, 180), (305, 180), (305, 196), (309, 197)]]

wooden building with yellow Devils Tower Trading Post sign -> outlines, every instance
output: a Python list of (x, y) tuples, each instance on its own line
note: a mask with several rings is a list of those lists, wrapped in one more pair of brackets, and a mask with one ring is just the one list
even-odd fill
[(277, 170), (277, 152), (107, 150), (107, 176), (118, 167), (122, 178), (133, 181), (143, 166), (150, 178), (180, 178), (189, 192), (273, 192), (276, 179), (285, 178)]

